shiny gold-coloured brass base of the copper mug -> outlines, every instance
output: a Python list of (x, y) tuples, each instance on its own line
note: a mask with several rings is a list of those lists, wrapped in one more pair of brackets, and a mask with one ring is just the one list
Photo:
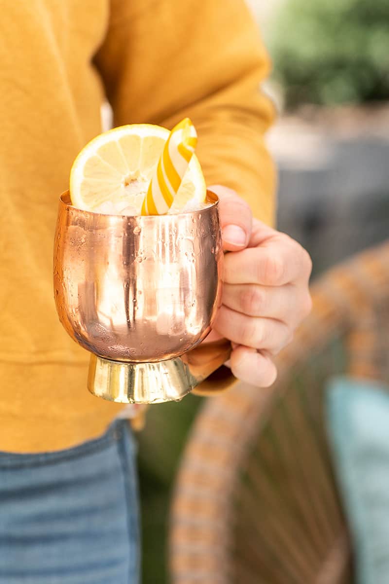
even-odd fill
[(123, 363), (90, 356), (88, 390), (121, 404), (160, 404), (187, 395), (198, 380), (176, 357), (155, 363)]

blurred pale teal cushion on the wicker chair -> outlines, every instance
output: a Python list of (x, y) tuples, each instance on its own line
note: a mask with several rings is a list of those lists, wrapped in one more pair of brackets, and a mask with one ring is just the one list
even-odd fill
[(389, 582), (389, 388), (331, 380), (327, 426), (359, 584)]

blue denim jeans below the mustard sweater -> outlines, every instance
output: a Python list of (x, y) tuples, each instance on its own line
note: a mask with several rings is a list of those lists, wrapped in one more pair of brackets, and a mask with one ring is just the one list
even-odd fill
[(135, 458), (127, 420), (68, 450), (0, 452), (0, 584), (138, 584)]

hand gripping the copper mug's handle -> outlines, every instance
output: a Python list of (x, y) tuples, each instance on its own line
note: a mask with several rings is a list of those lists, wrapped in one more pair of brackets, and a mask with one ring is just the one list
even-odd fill
[(268, 387), (276, 379), (273, 357), (293, 338), (311, 310), (309, 254), (288, 235), (251, 217), (236, 192), (218, 194), (225, 256), (222, 306), (206, 340), (232, 342), (228, 365), (235, 377)]

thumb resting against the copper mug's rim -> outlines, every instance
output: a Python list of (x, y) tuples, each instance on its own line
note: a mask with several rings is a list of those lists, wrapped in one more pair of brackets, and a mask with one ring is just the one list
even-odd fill
[(213, 185), (208, 188), (219, 197), (223, 249), (231, 252), (244, 249), (250, 239), (253, 223), (250, 207), (234, 190), (226, 186)]

